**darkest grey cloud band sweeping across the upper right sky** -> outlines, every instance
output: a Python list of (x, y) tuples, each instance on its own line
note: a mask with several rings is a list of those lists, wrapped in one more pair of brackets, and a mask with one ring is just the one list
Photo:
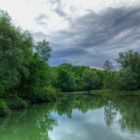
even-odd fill
[[(94, 47), (107, 43), (120, 33), (140, 26), (140, 9), (108, 9), (102, 14), (89, 13), (78, 18), (72, 27), (80, 34), (77, 45)], [(131, 36), (133, 36), (131, 34)]]

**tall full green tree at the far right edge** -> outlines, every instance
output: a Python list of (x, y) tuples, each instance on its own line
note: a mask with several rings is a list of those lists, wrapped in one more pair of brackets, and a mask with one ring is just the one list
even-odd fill
[(119, 53), (117, 62), (121, 66), (119, 72), (120, 88), (135, 90), (140, 88), (140, 54), (134, 51)]

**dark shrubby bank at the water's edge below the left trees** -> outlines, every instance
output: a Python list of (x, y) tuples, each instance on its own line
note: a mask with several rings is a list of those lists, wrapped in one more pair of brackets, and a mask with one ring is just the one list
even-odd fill
[[(43, 94), (44, 95), (44, 94)], [(45, 96), (45, 95), (44, 95)], [(19, 96), (10, 96), (10, 97), (1, 97), (0, 98), (0, 117), (9, 116), (13, 110), (22, 110), (28, 107), (31, 107), (33, 104), (39, 103), (51, 103), (59, 100), (63, 95), (59, 93), (59, 95), (55, 96), (32, 96), (32, 99), (27, 99)]]

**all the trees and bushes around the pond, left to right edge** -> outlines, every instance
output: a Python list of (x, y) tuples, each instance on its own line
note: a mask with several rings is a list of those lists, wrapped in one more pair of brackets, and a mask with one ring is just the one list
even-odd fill
[(55, 101), (63, 92), (140, 89), (138, 52), (119, 53), (118, 69), (109, 60), (96, 69), (72, 64), (49, 66), (51, 51), (47, 41), (35, 42), (28, 31), (16, 27), (10, 16), (0, 11), (0, 116), (32, 103)]

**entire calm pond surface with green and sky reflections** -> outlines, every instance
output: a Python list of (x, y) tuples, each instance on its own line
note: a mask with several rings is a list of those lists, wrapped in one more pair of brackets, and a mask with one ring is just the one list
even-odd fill
[(70, 95), (0, 119), (0, 140), (140, 140), (140, 98)]

